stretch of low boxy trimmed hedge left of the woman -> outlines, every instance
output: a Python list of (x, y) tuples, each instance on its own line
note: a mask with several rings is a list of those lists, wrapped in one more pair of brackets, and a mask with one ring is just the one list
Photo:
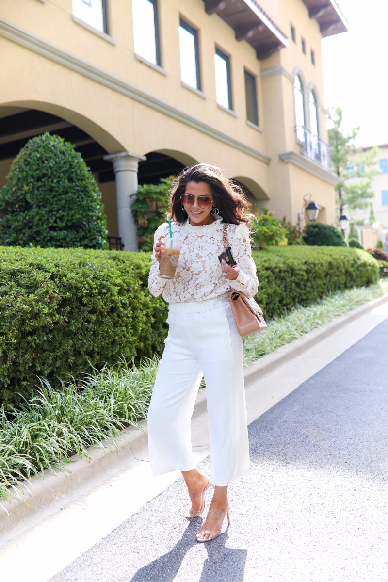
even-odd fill
[(0, 401), (30, 396), (37, 375), (163, 350), (168, 306), (148, 291), (149, 254), (0, 247)]

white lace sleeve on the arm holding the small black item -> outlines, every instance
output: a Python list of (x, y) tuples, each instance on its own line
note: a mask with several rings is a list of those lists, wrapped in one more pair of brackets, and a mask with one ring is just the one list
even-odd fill
[(234, 236), (230, 236), (232, 239), (232, 253), (233, 257), (240, 267), (239, 275), (234, 281), (228, 281), (229, 285), (236, 289), (236, 291), (241, 291), (251, 299), (257, 293), (259, 286), (258, 278), (256, 276), (256, 265), (251, 255), (251, 242), (249, 236), (249, 230), (244, 224), (237, 226)]

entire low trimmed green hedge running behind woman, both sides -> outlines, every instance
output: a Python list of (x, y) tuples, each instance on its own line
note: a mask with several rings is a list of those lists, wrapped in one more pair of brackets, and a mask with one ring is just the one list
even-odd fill
[[(268, 318), (379, 278), (370, 254), (343, 247), (255, 251), (258, 303)], [(0, 247), (0, 401), (29, 396), (37, 376), (79, 378), (88, 361), (162, 353), (168, 305), (152, 297), (147, 253)]]

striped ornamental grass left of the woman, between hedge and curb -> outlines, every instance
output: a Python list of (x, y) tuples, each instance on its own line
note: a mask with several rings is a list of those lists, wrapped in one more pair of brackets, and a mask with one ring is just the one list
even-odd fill
[(92, 368), (82, 380), (61, 381), (60, 390), (40, 379), (19, 409), (6, 414), (2, 407), (0, 499), (26, 502), (23, 488), (38, 471), (67, 471), (71, 456), (89, 457), (90, 446), (119, 448), (129, 425), (143, 430), (138, 421), (147, 417), (158, 365), (156, 356), (138, 366), (123, 360)]

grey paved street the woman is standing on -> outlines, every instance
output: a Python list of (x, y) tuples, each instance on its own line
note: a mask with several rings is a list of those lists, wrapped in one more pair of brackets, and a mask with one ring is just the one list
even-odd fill
[(250, 425), (217, 540), (195, 541), (180, 479), (52, 581), (388, 580), (387, 356), (388, 320)]

